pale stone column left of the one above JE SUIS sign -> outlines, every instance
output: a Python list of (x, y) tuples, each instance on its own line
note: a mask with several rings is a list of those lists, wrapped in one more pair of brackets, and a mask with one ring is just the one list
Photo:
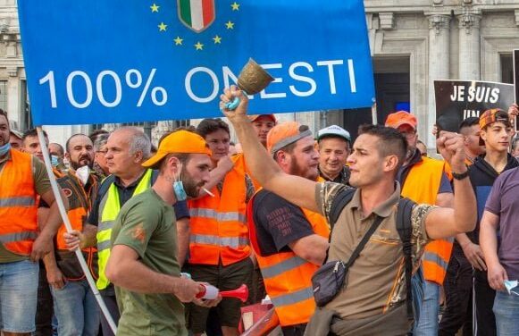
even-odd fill
[[(429, 113), (421, 121), (420, 138), (428, 148), (435, 148), (431, 128), (436, 123), (434, 80), (448, 80), (450, 63), (450, 15), (432, 13), (429, 17)], [(426, 122), (426, 124), (423, 124)]]

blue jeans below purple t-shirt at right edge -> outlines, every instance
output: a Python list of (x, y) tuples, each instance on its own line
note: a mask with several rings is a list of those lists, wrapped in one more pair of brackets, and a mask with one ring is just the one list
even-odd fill
[(519, 332), (519, 297), (497, 291), (494, 299), (494, 315), (499, 336), (517, 335)]

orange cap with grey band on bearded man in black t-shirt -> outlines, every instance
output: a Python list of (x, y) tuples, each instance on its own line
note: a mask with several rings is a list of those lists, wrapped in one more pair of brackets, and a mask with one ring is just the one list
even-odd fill
[(312, 131), (308, 129), (308, 126), (301, 125), (299, 122), (283, 122), (274, 126), (267, 134), (267, 150), (274, 155), (281, 148), (311, 136)]

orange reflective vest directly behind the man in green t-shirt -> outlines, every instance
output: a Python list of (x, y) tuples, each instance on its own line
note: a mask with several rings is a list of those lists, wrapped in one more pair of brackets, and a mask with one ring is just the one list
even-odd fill
[(235, 165), (223, 179), (222, 194), (213, 187), (206, 195), (188, 201), (191, 234), (189, 264), (235, 264), (250, 256), (247, 228), (245, 166)]

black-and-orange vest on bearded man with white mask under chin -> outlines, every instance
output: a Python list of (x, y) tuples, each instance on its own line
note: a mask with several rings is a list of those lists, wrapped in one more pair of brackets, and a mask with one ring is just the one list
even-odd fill
[[(83, 230), (83, 223), (91, 209), (91, 201), (93, 200), (93, 197), (96, 197), (97, 180), (93, 176), (90, 176), (89, 179), (90, 188), (88, 191), (84, 189), (81, 181), (72, 174), (63, 175), (63, 177), (57, 180), (60, 187), (63, 189), (63, 193), (69, 200), (69, 211), (67, 212), (67, 216), (69, 217), (72, 230)], [(65, 228), (65, 224), (62, 223), (62, 226), (60, 226), (58, 233), (55, 236), (57, 263), (68, 280), (80, 281), (85, 279), (85, 274), (82, 272), (76, 256), (71, 256), (73, 253), (67, 248), (63, 238), (63, 233), (66, 231), (67, 229)], [(96, 251), (96, 248), (83, 248), (83, 255), (85, 256), (88, 268), (94, 279), (97, 279)]]

